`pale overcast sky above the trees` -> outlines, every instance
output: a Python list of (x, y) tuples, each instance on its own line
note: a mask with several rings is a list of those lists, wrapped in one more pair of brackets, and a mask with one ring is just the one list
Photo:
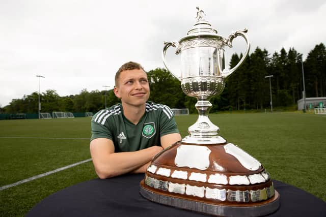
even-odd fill
[[(0, 107), (38, 92), (39, 82), (41, 93), (54, 89), (62, 97), (111, 89), (127, 61), (146, 71), (164, 68), (164, 41), (186, 36), (197, 6), (225, 38), (247, 28), (250, 52), (294, 47), (305, 59), (316, 44), (326, 44), (326, 1), (319, 0), (0, 0)], [(234, 39), (226, 65), (245, 48), (241, 37)], [(177, 74), (174, 52), (169, 48), (167, 61)]]

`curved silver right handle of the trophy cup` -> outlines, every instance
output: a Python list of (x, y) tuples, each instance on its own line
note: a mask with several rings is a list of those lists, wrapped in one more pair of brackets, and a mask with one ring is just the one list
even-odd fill
[(248, 40), (248, 38), (247, 38), (247, 36), (246, 36), (246, 33), (247, 33), (247, 32), (248, 32), (248, 30), (247, 30), (246, 28), (243, 29), (243, 30), (237, 30), (235, 33), (231, 34), (227, 40), (225, 39), (224, 44), (225, 44), (225, 45), (228, 45), (229, 47), (233, 47), (233, 46), (232, 46), (232, 41), (233, 41), (233, 39), (235, 39), (237, 36), (241, 36), (241, 37), (244, 38), (244, 40), (246, 40), (247, 48), (246, 48), (246, 52), (244, 52), (244, 55), (242, 56), (242, 58), (240, 59), (239, 63), (238, 63), (235, 67), (233, 67), (233, 68), (230, 69), (230, 70), (223, 70), (223, 72), (222, 72), (222, 76), (223, 76), (224, 78), (227, 78), (227, 77), (230, 76), (230, 75), (231, 75), (235, 70), (237, 70), (237, 69), (242, 65), (244, 59), (246, 59), (247, 56), (248, 56), (248, 53), (249, 53), (249, 50), (250, 50), (250, 42), (249, 42), (249, 40)]

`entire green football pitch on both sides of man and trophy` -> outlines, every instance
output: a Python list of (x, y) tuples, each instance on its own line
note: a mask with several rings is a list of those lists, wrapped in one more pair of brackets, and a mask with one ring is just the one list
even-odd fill
[[(182, 137), (197, 117), (175, 117)], [(228, 142), (260, 161), (273, 179), (326, 201), (326, 115), (223, 113), (210, 114), (210, 119)], [(97, 177), (89, 161), (90, 120), (0, 121), (1, 216), (23, 216), (48, 195)], [(75, 163), (80, 164), (63, 168)]]

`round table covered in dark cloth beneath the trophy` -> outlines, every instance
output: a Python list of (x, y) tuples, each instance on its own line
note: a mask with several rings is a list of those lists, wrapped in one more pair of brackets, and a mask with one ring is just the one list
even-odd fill
[[(139, 193), (144, 174), (92, 179), (52, 194), (33, 207), (31, 216), (207, 216), (148, 201)], [(273, 180), (280, 193), (280, 208), (268, 216), (326, 216), (326, 203), (281, 181)]]

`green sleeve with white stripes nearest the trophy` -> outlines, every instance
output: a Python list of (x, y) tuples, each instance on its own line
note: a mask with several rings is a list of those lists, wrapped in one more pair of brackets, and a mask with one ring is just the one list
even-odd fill
[(177, 123), (174, 119), (174, 114), (168, 106), (165, 106), (165, 109), (162, 109), (162, 112), (160, 114), (159, 129), (159, 136), (164, 136), (171, 133), (180, 133), (177, 127)]

